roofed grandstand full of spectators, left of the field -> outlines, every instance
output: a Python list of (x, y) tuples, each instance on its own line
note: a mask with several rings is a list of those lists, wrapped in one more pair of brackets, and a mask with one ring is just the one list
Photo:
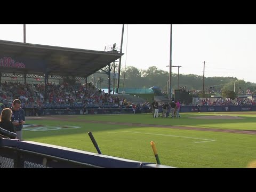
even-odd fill
[[(87, 83), (88, 76), (108, 68), (123, 53), (92, 51), (0, 41), (0, 107), (10, 107), (13, 99), (22, 101), (26, 116), (81, 114), (86, 107), (92, 113), (102, 108), (119, 109), (119, 100), (142, 104), (145, 99), (129, 94), (110, 94)], [(54, 109), (54, 111), (50, 111)], [(102, 111), (101, 111), (102, 112)]]

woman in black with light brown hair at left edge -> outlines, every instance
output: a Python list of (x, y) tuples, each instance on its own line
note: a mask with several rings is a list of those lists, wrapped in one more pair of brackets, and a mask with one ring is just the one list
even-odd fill
[[(12, 110), (9, 108), (3, 109), (0, 117), (0, 127), (4, 130), (16, 133), (13, 124), (11, 122), (12, 119)], [(3, 133), (2, 133), (3, 134)], [(4, 136), (9, 137), (9, 134), (3, 134)], [(10, 137), (11, 139), (15, 139), (15, 137)]]

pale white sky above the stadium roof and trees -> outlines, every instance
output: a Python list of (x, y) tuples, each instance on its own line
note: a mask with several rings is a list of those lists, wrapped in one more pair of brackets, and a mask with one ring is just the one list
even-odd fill
[[(104, 51), (121, 47), (122, 24), (26, 25), (26, 43)], [(125, 24), (121, 68), (169, 71), (205, 77), (237, 77), (256, 83), (256, 25)], [(23, 42), (23, 25), (0, 25), (0, 39)], [(172, 47), (172, 57), (170, 56)], [(205, 70), (203, 68), (205, 62)], [(173, 67), (172, 73), (178, 74)]]

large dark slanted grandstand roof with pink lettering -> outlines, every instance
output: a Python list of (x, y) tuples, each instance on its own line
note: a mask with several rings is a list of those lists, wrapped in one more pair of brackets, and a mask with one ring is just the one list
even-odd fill
[[(0, 72), (87, 77), (121, 58), (123, 54), (116, 50), (92, 51), (0, 40)], [(10, 63), (14, 64), (5, 65), (7, 59), (5, 62), (4, 58), (10, 58)], [(15, 62), (18, 60), (28, 65), (17, 67)]]

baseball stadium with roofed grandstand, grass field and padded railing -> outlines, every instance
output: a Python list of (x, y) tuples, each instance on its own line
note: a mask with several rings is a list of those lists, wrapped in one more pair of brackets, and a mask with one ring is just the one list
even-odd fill
[[(173, 115), (159, 87), (148, 99), (111, 89), (123, 54), (0, 41), (1, 110), (19, 99), (26, 116), (22, 139), (0, 132), (0, 167), (255, 167), (255, 105), (202, 105), (213, 98), (180, 89), (172, 101), (191, 102)], [(99, 70), (106, 92), (89, 81)]]

